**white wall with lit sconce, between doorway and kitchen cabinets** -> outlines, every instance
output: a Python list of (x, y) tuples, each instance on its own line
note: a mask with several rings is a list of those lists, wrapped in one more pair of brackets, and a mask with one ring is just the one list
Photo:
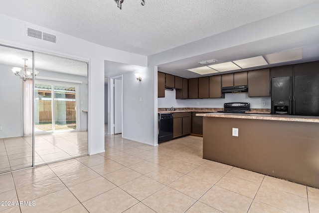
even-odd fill
[[(142, 81), (137, 81), (140, 73)], [(123, 74), (123, 138), (155, 145), (154, 74), (149, 68)], [(142, 101), (140, 101), (142, 97)]]

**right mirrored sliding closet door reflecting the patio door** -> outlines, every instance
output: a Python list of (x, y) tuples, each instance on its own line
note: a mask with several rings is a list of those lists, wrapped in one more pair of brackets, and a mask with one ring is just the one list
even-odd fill
[(88, 64), (35, 53), (35, 165), (88, 154)]

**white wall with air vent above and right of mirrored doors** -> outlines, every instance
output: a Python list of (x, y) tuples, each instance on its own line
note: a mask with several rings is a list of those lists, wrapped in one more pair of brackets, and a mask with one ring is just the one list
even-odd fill
[[(26, 37), (25, 25), (55, 34), (57, 42)], [(0, 26), (0, 44), (90, 61), (89, 154), (104, 152), (104, 60), (147, 66), (147, 57), (103, 47), (2, 14), (0, 14)]]

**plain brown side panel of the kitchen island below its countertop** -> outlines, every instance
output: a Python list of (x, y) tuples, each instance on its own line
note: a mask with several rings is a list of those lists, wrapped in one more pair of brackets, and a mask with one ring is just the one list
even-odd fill
[(203, 158), (319, 188), (319, 123), (203, 117)]

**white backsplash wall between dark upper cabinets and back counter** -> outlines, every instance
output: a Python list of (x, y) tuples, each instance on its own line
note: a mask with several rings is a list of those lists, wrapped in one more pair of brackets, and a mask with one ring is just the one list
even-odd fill
[[(265, 106), (262, 106), (265, 101)], [(198, 105), (197, 105), (198, 102)], [(226, 93), (225, 98), (207, 98), (207, 99), (175, 99), (175, 89), (173, 91), (165, 90), (165, 97), (158, 98), (159, 108), (178, 107), (200, 107), (200, 108), (223, 108), (224, 103), (228, 102), (248, 102), (250, 108), (270, 109), (270, 97), (248, 97), (248, 92)]]

